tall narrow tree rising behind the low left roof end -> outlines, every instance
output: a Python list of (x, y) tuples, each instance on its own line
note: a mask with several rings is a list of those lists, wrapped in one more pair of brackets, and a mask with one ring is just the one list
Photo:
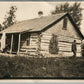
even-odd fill
[(13, 25), (15, 23), (15, 12), (17, 10), (17, 7), (16, 6), (11, 6), (10, 7), (10, 10), (8, 11), (7, 15), (5, 15), (5, 21), (3, 22), (3, 29)]

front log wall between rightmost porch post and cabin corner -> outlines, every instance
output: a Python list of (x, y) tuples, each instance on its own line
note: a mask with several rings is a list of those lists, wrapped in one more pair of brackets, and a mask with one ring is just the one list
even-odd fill
[[(27, 45), (28, 34), (22, 37), (20, 43), (20, 54), (25, 55), (37, 55), (38, 51), (38, 34), (32, 33), (30, 34), (30, 44)], [(24, 39), (25, 38), (25, 39)]]

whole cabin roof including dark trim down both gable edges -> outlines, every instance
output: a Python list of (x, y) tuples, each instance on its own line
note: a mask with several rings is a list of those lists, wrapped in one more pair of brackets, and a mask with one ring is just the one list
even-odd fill
[(50, 28), (52, 25), (56, 24), (65, 16), (69, 17), (76, 31), (83, 38), (82, 33), (80, 32), (79, 28), (76, 26), (73, 19), (68, 13), (60, 13), (56, 15), (49, 15), (30, 20), (24, 20), (8, 27), (7, 29), (1, 31), (0, 33), (39, 32), (42, 30), (46, 30), (47, 28)]

